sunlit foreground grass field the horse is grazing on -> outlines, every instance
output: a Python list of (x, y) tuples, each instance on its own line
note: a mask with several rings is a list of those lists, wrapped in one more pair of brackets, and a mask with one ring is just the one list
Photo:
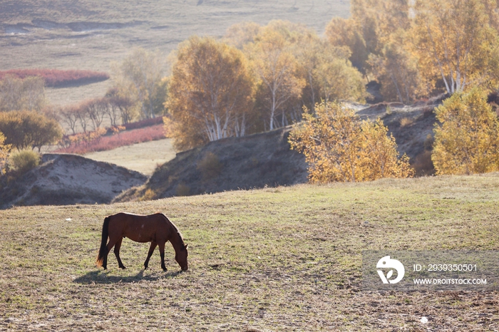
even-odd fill
[[(497, 331), (497, 292), (361, 290), (365, 249), (499, 249), (499, 174), (299, 185), (0, 212), (0, 330)], [(164, 212), (190, 248), (168, 272), (103, 218)], [(71, 220), (69, 220), (71, 218)], [(428, 323), (420, 322), (421, 316)]]

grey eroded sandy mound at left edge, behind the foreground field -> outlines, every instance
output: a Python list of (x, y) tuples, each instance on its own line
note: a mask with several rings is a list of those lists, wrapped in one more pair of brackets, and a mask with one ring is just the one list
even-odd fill
[(78, 155), (43, 155), (42, 165), (11, 180), (1, 177), (0, 209), (19, 205), (109, 203), (117, 194), (147, 178)]

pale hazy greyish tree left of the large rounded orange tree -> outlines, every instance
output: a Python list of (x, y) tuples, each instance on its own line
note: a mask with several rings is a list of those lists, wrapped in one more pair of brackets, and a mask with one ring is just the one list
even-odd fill
[(134, 48), (121, 63), (113, 63), (113, 80), (120, 95), (127, 95), (138, 103), (143, 119), (163, 113), (163, 105), (155, 102), (163, 78), (163, 66), (163, 56), (159, 52), (144, 48)]

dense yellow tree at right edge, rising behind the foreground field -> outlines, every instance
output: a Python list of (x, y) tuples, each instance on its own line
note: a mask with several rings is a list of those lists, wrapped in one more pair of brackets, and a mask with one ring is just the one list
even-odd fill
[(493, 172), (499, 166), (499, 122), (479, 88), (455, 93), (436, 108), (431, 160), (436, 174)]

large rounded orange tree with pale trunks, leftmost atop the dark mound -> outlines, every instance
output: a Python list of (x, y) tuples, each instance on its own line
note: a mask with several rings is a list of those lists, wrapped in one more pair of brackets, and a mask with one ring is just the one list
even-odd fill
[(175, 146), (186, 149), (245, 135), (253, 81), (242, 52), (193, 36), (178, 48), (166, 103), (175, 121)]

